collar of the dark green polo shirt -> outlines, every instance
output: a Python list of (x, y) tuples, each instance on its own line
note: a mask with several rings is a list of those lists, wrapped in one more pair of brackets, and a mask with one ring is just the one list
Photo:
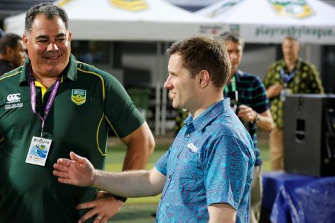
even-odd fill
[[(24, 66), (22, 67), (21, 77), (20, 77), (20, 84), (23, 82), (28, 83), (29, 81), (29, 66), (30, 66), (30, 59), (27, 58), (24, 62)], [(63, 74), (63, 78), (70, 79), (72, 81), (77, 80), (77, 61), (75, 60), (75, 56), (73, 54), (70, 54), (70, 60), (68, 61), (68, 66), (66, 66)]]

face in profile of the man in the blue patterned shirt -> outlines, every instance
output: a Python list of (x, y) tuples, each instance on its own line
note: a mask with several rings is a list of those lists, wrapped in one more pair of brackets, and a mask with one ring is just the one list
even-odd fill
[(189, 70), (184, 68), (179, 54), (172, 54), (168, 64), (169, 77), (164, 88), (170, 90), (172, 106), (176, 109), (188, 109), (192, 112), (197, 108), (197, 78), (192, 79)]

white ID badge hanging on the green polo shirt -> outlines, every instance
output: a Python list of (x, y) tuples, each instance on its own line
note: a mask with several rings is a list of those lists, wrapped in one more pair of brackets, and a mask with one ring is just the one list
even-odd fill
[(29, 146), (26, 162), (44, 166), (45, 161), (47, 160), (47, 154), (50, 151), (51, 142), (50, 139), (33, 137)]

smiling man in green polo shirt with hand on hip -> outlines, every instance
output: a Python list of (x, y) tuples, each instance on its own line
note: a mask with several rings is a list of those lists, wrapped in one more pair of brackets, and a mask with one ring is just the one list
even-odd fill
[(71, 37), (64, 9), (32, 6), (23, 35), (29, 59), (0, 78), (1, 223), (107, 222), (126, 198), (62, 185), (52, 165), (75, 151), (103, 169), (108, 128), (127, 146), (124, 170), (143, 169), (154, 150), (123, 86), (77, 61)]

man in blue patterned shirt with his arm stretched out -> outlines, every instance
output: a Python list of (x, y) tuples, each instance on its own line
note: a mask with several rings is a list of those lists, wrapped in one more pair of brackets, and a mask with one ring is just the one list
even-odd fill
[(255, 164), (253, 141), (223, 100), (230, 61), (221, 38), (196, 36), (168, 49), (165, 89), (190, 116), (150, 171), (110, 173), (75, 153), (59, 159), (59, 182), (98, 187), (124, 197), (162, 191), (156, 222), (248, 222)]

